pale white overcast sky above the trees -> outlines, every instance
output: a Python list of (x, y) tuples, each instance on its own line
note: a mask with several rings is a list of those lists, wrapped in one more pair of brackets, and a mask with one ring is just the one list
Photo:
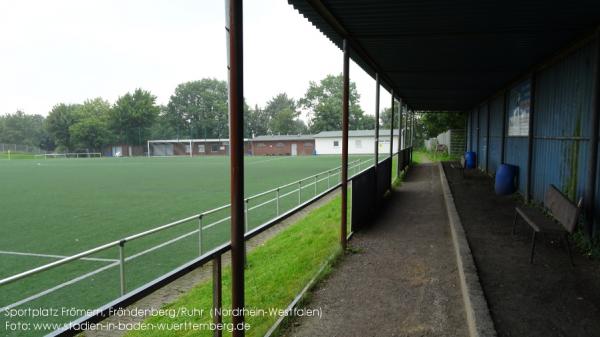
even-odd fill
[[(342, 52), (286, 0), (244, 4), (246, 102), (298, 99), (309, 82), (342, 71)], [(224, 0), (0, 2), (0, 114), (47, 115), (57, 103), (136, 88), (167, 104), (177, 84), (227, 80)], [(360, 104), (374, 114), (375, 81), (354, 62)], [(381, 109), (390, 96), (382, 88)]]

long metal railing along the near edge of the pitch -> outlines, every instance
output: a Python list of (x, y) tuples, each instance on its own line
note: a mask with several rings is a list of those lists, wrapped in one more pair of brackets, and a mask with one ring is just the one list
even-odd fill
[[(354, 160), (354, 161), (350, 162), (348, 165), (349, 176), (359, 174), (361, 171), (370, 167), (372, 165), (372, 163), (373, 163), (372, 159), (368, 159), (368, 160), (364, 160), (364, 161)], [(281, 220), (287, 218), (288, 216), (294, 214), (299, 209), (318, 200), (322, 196), (326, 195), (327, 193), (329, 193), (329, 192), (333, 191), (334, 189), (336, 189), (337, 187), (339, 187), (341, 184), (339, 181), (340, 176), (341, 176), (340, 172), (341, 172), (341, 166), (338, 166), (336, 168), (322, 171), (315, 175), (305, 177), (300, 180), (296, 180), (294, 182), (291, 182), (291, 183), (288, 183), (285, 185), (281, 185), (276, 188), (270, 189), (268, 191), (264, 191), (264, 192), (252, 195), (250, 197), (247, 197), (245, 199), (245, 205), (246, 205), (246, 208), (245, 208), (245, 218), (246, 218), (246, 223), (245, 223), (246, 235), (245, 236), (246, 236), (246, 238), (245, 239), (248, 240), (251, 237), (261, 233), (262, 231), (266, 230), (267, 228), (271, 227), (272, 225), (274, 225), (274, 224), (280, 222)], [(327, 182), (326, 185), (325, 185), (325, 182)], [(318, 184), (323, 184), (326, 186), (325, 190), (321, 193), (319, 193)], [(303, 201), (303, 198), (302, 198), (303, 191), (307, 191), (311, 187), (312, 187), (312, 190), (311, 190), (312, 197), (309, 198), (308, 200)], [(293, 206), (291, 209), (284, 210), (281, 205), (281, 201), (286, 197), (292, 196), (293, 194), (297, 194), (297, 202), (296, 202), (295, 206)], [(261, 200), (261, 198), (264, 198), (264, 197), (267, 197), (268, 199)], [(257, 205), (250, 206), (250, 202), (253, 200), (260, 200), (260, 203), (258, 203)], [(269, 205), (269, 204), (275, 204), (275, 216), (255, 228), (250, 228), (249, 219), (251, 218), (251, 212), (254, 210), (257, 210), (258, 208)], [(0, 308), (0, 313), (2, 313), (3, 311), (9, 310), (11, 308), (23, 305), (32, 300), (38, 299), (42, 296), (48, 295), (48, 294), (52, 293), (53, 291), (61, 289), (64, 286), (71, 285), (74, 282), (81, 281), (81, 280), (85, 279), (86, 277), (90, 277), (90, 276), (94, 275), (95, 273), (98, 273), (98, 272), (101, 272), (101, 271), (104, 271), (104, 270), (107, 270), (110, 268), (114, 268), (114, 267), (118, 267), (118, 269), (119, 269), (118, 277), (119, 277), (120, 297), (117, 298), (115, 301), (106, 304), (103, 307), (106, 310), (109, 310), (110, 308), (112, 308), (113, 305), (115, 305), (115, 303), (118, 303), (118, 305), (123, 305), (124, 303), (131, 303), (135, 299), (139, 298), (139, 296), (141, 296), (141, 294), (147, 293), (147, 292), (151, 291), (151, 289), (154, 289), (154, 287), (158, 287), (158, 285), (166, 284), (166, 283), (170, 282), (170, 280), (179, 277), (180, 273), (189, 272), (191, 269), (197, 268), (211, 260), (213, 261), (213, 272), (217, 273), (217, 271), (218, 271), (218, 274), (220, 275), (220, 270), (221, 270), (220, 256), (230, 249), (229, 243), (225, 243), (223, 245), (220, 245), (216, 248), (213, 248), (213, 249), (205, 252), (203, 249), (204, 248), (203, 244), (202, 244), (202, 242), (203, 242), (202, 236), (203, 236), (204, 231), (206, 231), (207, 229), (209, 229), (211, 227), (217, 226), (218, 224), (228, 221), (230, 219), (230, 216), (226, 216), (224, 218), (221, 218), (219, 220), (216, 220), (216, 221), (213, 221), (213, 222), (207, 223), (207, 224), (204, 223), (205, 219), (209, 215), (216, 214), (220, 211), (224, 211), (224, 210), (228, 209), (229, 207), (230, 207), (230, 204), (227, 204), (227, 205), (223, 205), (223, 206), (220, 206), (220, 207), (208, 210), (208, 211), (204, 211), (202, 213), (194, 214), (194, 215), (186, 217), (184, 219), (180, 219), (180, 220), (177, 220), (177, 221), (174, 221), (174, 222), (171, 222), (171, 223), (168, 223), (168, 224), (156, 227), (156, 228), (152, 228), (152, 229), (144, 231), (144, 232), (133, 234), (133, 235), (124, 237), (120, 240), (112, 241), (112, 242), (103, 244), (101, 246), (97, 246), (92, 249), (86, 250), (84, 252), (62, 258), (62, 259), (54, 261), (52, 263), (48, 263), (48, 264), (24, 271), (22, 273), (18, 273), (16, 275), (1, 279), (0, 287), (15, 283), (19, 280), (23, 280), (30, 276), (40, 274), (42, 272), (54, 269), (54, 268), (62, 266), (62, 265), (66, 265), (66, 264), (74, 262), (74, 261), (85, 259), (91, 255), (107, 251), (111, 248), (117, 247), (118, 253), (119, 253), (118, 260), (109, 260), (112, 263), (105, 265), (101, 268), (98, 268), (88, 274), (79, 276), (69, 282), (65, 282), (65, 283), (55, 286), (53, 288), (46, 289), (46, 290), (44, 290), (40, 293), (37, 293), (33, 296), (29, 296), (25, 299), (22, 299), (20, 301), (17, 301), (15, 303), (12, 303), (5, 307), (2, 307), (2, 308)], [(149, 249), (138, 252), (136, 254), (133, 254), (130, 256), (126, 255), (125, 248), (126, 248), (127, 243), (147, 237), (147, 236), (155, 234), (155, 233), (163, 232), (170, 228), (175, 228), (175, 227), (181, 226), (183, 224), (190, 223), (192, 221), (198, 221), (198, 227), (196, 230), (185, 233), (174, 239), (168, 240), (157, 246), (151, 247)], [(196, 259), (188, 261), (187, 263), (183, 264), (179, 268), (176, 268), (176, 269), (172, 270), (171, 272), (159, 277), (158, 279), (148, 282), (144, 286), (134, 289), (128, 293), (128, 288), (127, 288), (127, 284), (126, 284), (126, 268), (125, 268), (126, 262), (136, 259), (142, 255), (145, 255), (149, 252), (155, 251), (156, 249), (159, 249), (166, 245), (172, 244), (178, 240), (181, 240), (183, 238), (189, 237), (194, 234), (198, 235), (198, 257)], [(219, 280), (219, 282), (220, 282), (220, 280)], [(215, 294), (215, 296), (216, 296), (216, 294)], [(96, 310), (96, 312), (101, 313), (102, 310)], [(85, 321), (89, 318), (90, 317), (82, 317), (80, 320)], [(73, 322), (71, 322), (71, 323), (73, 323)], [(71, 330), (70, 329), (61, 330), (61, 331), (57, 331), (55, 334), (62, 334), (62, 333), (69, 334), (67, 331), (71, 331)]]

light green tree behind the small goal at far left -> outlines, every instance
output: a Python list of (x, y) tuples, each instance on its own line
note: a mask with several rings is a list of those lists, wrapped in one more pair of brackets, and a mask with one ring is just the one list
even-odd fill
[(112, 141), (108, 129), (110, 103), (102, 98), (85, 101), (79, 106), (79, 121), (69, 127), (73, 144), (80, 149), (101, 150)]

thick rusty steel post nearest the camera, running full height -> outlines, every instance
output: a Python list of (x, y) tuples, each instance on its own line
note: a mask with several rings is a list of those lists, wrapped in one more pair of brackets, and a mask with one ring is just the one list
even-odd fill
[(244, 68), (243, 0), (226, 0), (227, 63), (229, 68), (229, 146), (231, 198), (231, 308), (233, 336), (243, 337), (244, 325)]

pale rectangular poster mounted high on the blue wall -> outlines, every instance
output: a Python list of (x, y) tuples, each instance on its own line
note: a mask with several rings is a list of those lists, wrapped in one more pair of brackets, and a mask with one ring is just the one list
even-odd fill
[(508, 135), (529, 135), (529, 107), (531, 105), (531, 82), (525, 81), (510, 91), (508, 110)]

